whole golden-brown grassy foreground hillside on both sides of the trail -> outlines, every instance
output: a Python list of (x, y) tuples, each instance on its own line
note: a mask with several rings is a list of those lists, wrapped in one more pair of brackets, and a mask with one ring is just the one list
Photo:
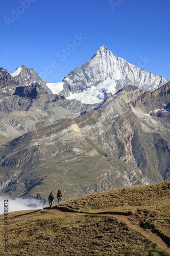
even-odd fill
[[(157, 229), (170, 244), (169, 195), (170, 180), (94, 193), (52, 210), (11, 212), (9, 249), (4, 252), (1, 240), (0, 255), (170, 255), (112, 215), (131, 214), (135, 224)], [(4, 237), (4, 215), (0, 227)]]

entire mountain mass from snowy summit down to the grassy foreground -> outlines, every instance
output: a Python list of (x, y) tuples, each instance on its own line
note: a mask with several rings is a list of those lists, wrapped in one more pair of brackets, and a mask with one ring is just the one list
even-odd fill
[(170, 82), (102, 46), (63, 81), (0, 68), (0, 191), (63, 199), (170, 178)]

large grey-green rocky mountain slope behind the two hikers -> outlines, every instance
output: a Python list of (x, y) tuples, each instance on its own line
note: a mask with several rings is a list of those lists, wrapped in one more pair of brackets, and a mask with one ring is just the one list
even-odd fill
[[(43, 198), (61, 188), (68, 199), (170, 178), (170, 124), (151, 115), (154, 107), (149, 114), (152, 96), (141, 101), (142, 95), (125, 87), (76, 118), (1, 146), (2, 193)], [(161, 104), (169, 101), (169, 83), (155, 93), (155, 102), (160, 98)], [(167, 109), (163, 113), (169, 115)]]

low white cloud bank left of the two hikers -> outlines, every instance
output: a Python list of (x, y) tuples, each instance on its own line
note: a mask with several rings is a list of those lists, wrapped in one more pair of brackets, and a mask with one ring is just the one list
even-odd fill
[[(7, 201), (8, 200), (8, 201)], [(7, 209), (8, 212), (17, 211), (17, 210), (32, 210), (32, 209), (43, 209), (46, 206), (38, 199), (9, 199), (8, 197), (0, 197), (0, 214), (4, 214), (4, 209)]]

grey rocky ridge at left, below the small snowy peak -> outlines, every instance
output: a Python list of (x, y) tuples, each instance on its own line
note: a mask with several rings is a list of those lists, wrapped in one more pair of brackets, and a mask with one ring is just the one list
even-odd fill
[(85, 110), (81, 101), (48, 94), (39, 83), (21, 84), (0, 70), (0, 142), (52, 124), (68, 114)]

